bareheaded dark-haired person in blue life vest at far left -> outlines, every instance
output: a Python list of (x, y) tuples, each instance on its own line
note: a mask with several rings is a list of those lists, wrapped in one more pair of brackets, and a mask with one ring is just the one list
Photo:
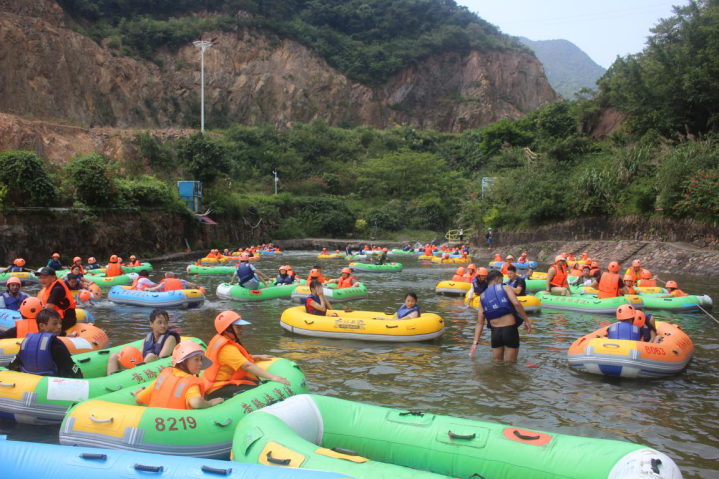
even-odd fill
[(28, 333), (20, 352), (8, 365), (11, 371), (40, 376), (82, 379), (82, 371), (70, 351), (57, 336), (62, 333), (62, 318), (52, 309), (43, 309), (34, 319), (37, 331)]

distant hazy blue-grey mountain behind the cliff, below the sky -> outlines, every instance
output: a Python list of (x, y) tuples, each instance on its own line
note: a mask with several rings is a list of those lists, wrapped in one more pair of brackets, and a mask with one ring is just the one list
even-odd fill
[(524, 37), (519, 40), (534, 50), (544, 65), (550, 85), (565, 98), (574, 98), (574, 94), (585, 87), (596, 89), (597, 80), (606, 72), (568, 40), (533, 41)]

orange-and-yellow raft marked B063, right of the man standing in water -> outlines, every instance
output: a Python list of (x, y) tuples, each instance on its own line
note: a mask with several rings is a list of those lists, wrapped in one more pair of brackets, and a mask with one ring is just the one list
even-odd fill
[(659, 378), (682, 372), (694, 356), (694, 344), (677, 325), (657, 321), (661, 343), (608, 339), (609, 326), (583, 336), (569, 347), (569, 365), (579, 371), (623, 378)]

